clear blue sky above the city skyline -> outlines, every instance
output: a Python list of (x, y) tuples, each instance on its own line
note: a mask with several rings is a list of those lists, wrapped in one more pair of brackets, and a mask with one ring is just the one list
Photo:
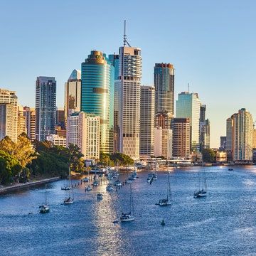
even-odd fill
[(154, 63), (172, 63), (175, 97), (198, 92), (210, 119), (210, 146), (220, 146), (225, 120), (242, 107), (256, 117), (256, 1), (0, 0), (0, 88), (34, 107), (40, 75), (64, 84), (90, 50), (118, 53), (127, 39), (142, 48), (142, 85)]

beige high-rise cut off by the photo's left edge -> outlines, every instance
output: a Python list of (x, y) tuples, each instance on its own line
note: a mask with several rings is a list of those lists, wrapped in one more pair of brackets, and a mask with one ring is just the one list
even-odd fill
[(0, 89), (0, 140), (8, 136), (17, 141), (18, 108), (14, 91)]

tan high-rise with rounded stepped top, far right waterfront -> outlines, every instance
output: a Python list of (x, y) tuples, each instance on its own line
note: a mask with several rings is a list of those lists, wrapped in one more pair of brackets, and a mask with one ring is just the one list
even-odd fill
[(242, 108), (227, 120), (227, 150), (233, 161), (252, 161), (253, 122), (252, 114)]

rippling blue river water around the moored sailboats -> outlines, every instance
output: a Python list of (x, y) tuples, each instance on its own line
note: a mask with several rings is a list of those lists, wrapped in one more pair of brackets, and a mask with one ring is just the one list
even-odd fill
[[(198, 171), (171, 171), (173, 205), (166, 208), (155, 205), (166, 193), (166, 173), (151, 185), (147, 172), (139, 173), (132, 223), (112, 223), (129, 210), (128, 184), (118, 192), (102, 184), (87, 193), (82, 185), (74, 190), (75, 203), (64, 206), (64, 181), (50, 183), (47, 214), (38, 213), (44, 186), (1, 196), (0, 255), (256, 255), (255, 166), (207, 167), (206, 198), (193, 198)], [(102, 201), (97, 191), (104, 192)]]

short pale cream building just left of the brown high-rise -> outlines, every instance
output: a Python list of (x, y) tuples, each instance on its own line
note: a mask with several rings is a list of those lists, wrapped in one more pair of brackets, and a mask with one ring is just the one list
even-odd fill
[(172, 157), (172, 130), (154, 129), (154, 156), (164, 156), (166, 159)]

